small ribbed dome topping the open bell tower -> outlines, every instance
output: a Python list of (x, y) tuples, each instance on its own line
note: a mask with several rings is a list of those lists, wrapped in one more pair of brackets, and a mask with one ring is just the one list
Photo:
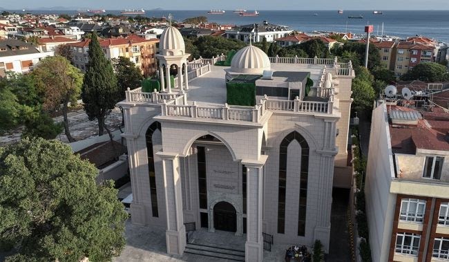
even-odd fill
[(185, 55), (186, 53), (184, 39), (180, 31), (173, 26), (169, 26), (162, 32), (159, 47), (161, 55)]

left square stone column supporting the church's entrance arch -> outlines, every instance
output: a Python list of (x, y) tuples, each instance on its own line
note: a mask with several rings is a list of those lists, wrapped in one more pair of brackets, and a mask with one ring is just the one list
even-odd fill
[(160, 151), (156, 154), (162, 158), (164, 173), (167, 253), (182, 255), (186, 248), (186, 228), (182, 216), (182, 189), (178, 153)]

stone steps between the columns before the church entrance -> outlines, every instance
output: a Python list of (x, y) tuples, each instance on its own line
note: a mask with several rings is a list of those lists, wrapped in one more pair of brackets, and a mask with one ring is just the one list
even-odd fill
[(233, 250), (212, 245), (187, 244), (185, 253), (197, 254), (201, 256), (211, 256), (218, 259), (228, 259), (231, 261), (245, 261), (245, 251)]

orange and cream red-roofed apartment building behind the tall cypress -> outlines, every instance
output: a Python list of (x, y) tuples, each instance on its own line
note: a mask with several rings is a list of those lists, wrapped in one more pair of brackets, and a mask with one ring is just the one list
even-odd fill
[[(69, 44), (73, 48), (73, 64), (82, 71), (86, 71), (88, 63), (88, 49), (90, 39)], [(111, 60), (118, 57), (128, 57), (140, 68), (144, 76), (154, 75), (156, 72), (156, 44), (159, 39), (143, 39), (137, 35), (126, 38), (108, 38), (99, 41), (104, 55)]]

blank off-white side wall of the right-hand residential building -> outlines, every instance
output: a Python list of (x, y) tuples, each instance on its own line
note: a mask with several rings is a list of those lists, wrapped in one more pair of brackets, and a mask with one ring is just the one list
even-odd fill
[(366, 172), (365, 198), (372, 261), (388, 261), (396, 194), (390, 194), (394, 169), (385, 104), (372, 113)]

